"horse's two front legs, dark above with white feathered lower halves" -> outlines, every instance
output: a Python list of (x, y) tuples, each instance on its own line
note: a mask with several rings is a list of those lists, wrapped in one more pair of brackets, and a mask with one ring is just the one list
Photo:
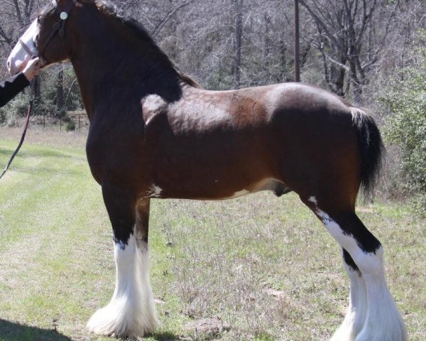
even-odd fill
[(87, 328), (116, 337), (144, 335), (158, 325), (148, 276), (149, 199), (136, 203), (133, 193), (104, 184), (102, 194), (114, 231), (116, 288)]

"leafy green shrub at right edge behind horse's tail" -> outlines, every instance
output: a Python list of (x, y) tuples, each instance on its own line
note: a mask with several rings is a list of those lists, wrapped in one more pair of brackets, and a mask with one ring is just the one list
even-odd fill
[(386, 119), (385, 137), (401, 148), (403, 171), (408, 187), (416, 194), (417, 208), (426, 215), (426, 32), (419, 34), (413, 50), (413, 66), (391, 80), (391, 90), (383, 96), (391, 110)]

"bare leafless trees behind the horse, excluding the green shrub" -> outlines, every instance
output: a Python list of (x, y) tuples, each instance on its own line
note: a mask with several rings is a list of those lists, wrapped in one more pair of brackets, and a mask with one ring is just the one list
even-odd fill
[[(11, 48), (45, 0), (1, 0), (0, 53)], [(293, 80), (293, 0), (121, 0), (111, 3), (143, 23), (181, 70), (214, 90)], [(300, 0), (302, 81), (359, 104), (370, 103), (410, 54), (426, 26), (425, 1)], [(1, 77), (6, 77), (1, 63)], [(67, 69), (67, 66), (65, 66)], [(65, 75), (67, 93), (72, 72)], [(62, 82), (43, 72), (37, 95)], [(40, 90), (40, 83), (41, 90)], [(53, 83), (53, 84), (52, 84)], [(41, 100), (53, 98), (41, 98)], [(61, 101), (60, 101), (61, 102)], [(80, 103), (79, 103), (80, 104)], [(81, 104), (80, 104), (81, 106)]]

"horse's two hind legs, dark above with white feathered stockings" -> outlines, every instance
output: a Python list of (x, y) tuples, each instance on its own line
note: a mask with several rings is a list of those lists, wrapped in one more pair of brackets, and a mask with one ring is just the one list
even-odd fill
[(352, 301), (344, 323), (332, 340), (407, 340), (403, 320), (386, 285), (380, 242), (351, 208), (337, 208), (342, 203), (335, 202), (335, 207), (329, 202), (324, 205), (316, 197), (303, 201), (347, 252), (344, 262), (351, 279)]

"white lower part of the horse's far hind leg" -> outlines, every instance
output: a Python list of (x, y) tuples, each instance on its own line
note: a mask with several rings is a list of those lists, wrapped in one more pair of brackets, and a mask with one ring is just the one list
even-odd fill
[(359, 271), (343, 263), (351, 281), (349, 307), (342, 325), (334, 333), (331, 341), (354, 341), (366, 320), (367, 293), (364, 278)]

